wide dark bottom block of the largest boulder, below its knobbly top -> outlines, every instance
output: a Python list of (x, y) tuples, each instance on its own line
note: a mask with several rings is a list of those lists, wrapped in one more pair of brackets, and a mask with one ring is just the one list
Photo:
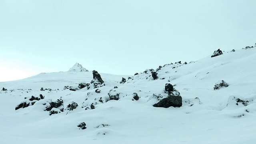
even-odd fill
[(169, 108), (170, 106), (173, 107), (181, 107), (182, 106), (182, 97), (169, 95), (167, 98), (163, 98), (158, 103), (153, 105), (154, 107), (162, 107), (162, 108)]

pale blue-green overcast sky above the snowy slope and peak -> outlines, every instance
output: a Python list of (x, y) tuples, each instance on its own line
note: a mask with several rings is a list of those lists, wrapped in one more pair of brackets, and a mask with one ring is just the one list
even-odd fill
[(0, 82), (128, 74), (256, 42), (255, 0), (0, 0)]

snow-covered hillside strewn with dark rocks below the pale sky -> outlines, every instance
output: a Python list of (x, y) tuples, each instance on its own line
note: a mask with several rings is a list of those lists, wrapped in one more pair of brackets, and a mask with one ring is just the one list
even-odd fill
[[(256, 48), (153, 69), (98, 72), (104, 82), (80, 69), (0, 82), (0, 143), (255, 144)], [(181, 107), (153, 106), (170, 96), (166, 84)]]

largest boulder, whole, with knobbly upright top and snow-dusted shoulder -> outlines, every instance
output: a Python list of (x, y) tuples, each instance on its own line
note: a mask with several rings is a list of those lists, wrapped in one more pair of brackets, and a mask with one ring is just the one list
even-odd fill
[(172, 87), (172, 84), (165, 84), (165, 93), (168, 93), (168, 97), (163, 98), (158, 103), (154, 104), (154, 107), (169, 108), (170, 106), (182, 106), (182, 97), (180, 96), (180, 92), (175, 90), (175, 88)]

